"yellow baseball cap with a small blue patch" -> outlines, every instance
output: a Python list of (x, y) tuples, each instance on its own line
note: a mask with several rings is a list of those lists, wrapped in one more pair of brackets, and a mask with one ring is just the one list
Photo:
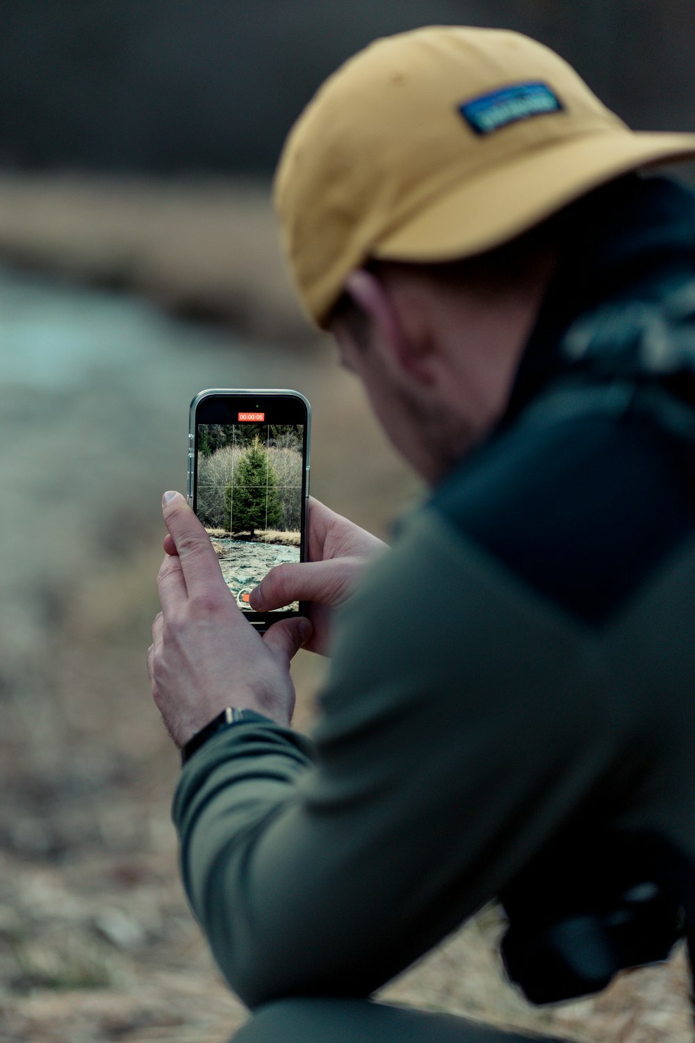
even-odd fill
[(528, 37), (429, 26), (325, 81), (284, 145), (275, 205), (302, 304), (325, 325), (368, 258), (472, 257), (619, 174), (691, 155), (695, 135), (630, 130)]

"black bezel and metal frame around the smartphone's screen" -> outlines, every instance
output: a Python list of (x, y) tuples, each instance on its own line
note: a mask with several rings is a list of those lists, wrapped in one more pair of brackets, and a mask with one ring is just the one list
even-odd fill
[[(304, 466), (302, 469), (302, 494), (301, 494), (301, 539), (299, 548), (299, 560), (306, 560), (306, 524), (308, 519), (308, 483), (309, 483), (309, 469), (311, 461), (309, 454), (312, 447), (312, 407), (309, 405), (308, 398), (301, 393), (301, 391), (295, 391), (292, 388), (206, 388), (203, 391), (199, 391), (197, 395), (191, 402), (189, 408), (189, 455), (188, 455), (188, 479), (187, 479), (187, 499), (189, 506), (193, 509), (195, 501), (195, 480), (197, 476), (197, 464), (198, 464), (198, 409), (202, 403), (209, 398), (253, 398), (254, 396), (264, 398), (276, 397), (276, 398), (298, 398), (304, 409), (306, 410), (306, 423), (304, 432), (304, 444), (306, 446)], [(218, 422), (218, 421), (216, 421)], [(220, 421), (221, 422), (221, 421)], [(242, 611), (240, 609), (240, 611)], [(268, 629), (273, 623), (277, 623), (279, 620), (294, 618), (298, 615), (306, 615), (306, 602), (299, 603), (299, 611), (275, 611), (275, 612), (246, 612), (244, 615), (248, 617), (248, 622), (254, 627), (259, 633), (263, 633)]]

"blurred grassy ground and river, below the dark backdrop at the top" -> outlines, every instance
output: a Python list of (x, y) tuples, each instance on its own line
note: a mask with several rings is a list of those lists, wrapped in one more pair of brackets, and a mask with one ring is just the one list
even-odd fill
[[(298, 314), (265, 189), (0, 177), (0, 1041), (223, 1043), (245, 1012), (182, 897), (177, 757), (145, 671), (189, 402), (306, 393), (313, 492), (380, 535), (418, 488)], [(321, 675), (300, 653), (301, 728)], [(499, 929), (485, 911), (386, 995), (596, 1043), (690, 1039), (680, 956), (537, 1012), (501, 980)]]

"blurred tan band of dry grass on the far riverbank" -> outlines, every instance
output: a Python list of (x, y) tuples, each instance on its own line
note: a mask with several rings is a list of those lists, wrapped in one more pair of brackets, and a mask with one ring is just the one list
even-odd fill
[(0, 256), (253, 338), (313, 336), (256, 181), (0, 174)]

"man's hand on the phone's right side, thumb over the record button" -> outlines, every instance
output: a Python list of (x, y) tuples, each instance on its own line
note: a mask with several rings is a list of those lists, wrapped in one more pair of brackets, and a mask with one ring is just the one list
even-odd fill
[(331, 609), (349, 597), (365, 566), (386, 548), (376, 536), (309, 496), (308, 561), (271, 568), (249, 603), (256, 612), (269, 612), (293, 601), (308, 602), (314, 631), (305, 648), (325, 655)]

